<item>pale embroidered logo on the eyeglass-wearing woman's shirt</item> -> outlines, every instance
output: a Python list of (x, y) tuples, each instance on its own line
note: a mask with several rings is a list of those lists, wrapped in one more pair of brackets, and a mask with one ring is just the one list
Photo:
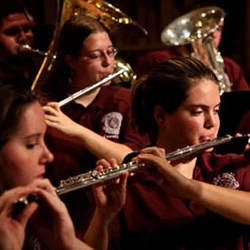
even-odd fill
[(102, 118), (103, 130), (109, 134), (107, 138), (118, 138), (121, 124), (122, 114), (118, 112), (110, 112)]

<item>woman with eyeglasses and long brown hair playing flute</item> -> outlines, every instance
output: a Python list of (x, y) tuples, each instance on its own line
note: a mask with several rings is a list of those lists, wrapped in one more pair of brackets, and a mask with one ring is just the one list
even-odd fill
[[(128, 153), (147, 145), (130, 124), (130, 89), (108, 82), (59, 108), (58, 101), (113, 73), (116, 53), (107, 29), (93, 17), (71, 17), (61, 29), (57, 65), (46, 92), (41, 92), (43, 101), (49, 101), (44, 106), (46, 139), (54, 154), (49, 169), (56, 185), (93, 170), (99, 158), (115, 158), (119, 164)], [(89, 221), (82, 218), (81, 207), (93, 211), (88, 189), (65, 195), (64, 201), (84, 232)]]

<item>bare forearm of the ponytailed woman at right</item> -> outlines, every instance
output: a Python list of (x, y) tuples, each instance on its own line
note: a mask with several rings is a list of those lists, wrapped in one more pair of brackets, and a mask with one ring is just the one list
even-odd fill
[(155, 158), (154, 160), (158, 170), (167, 181), (164, 185), (169, 186), (176, 195), (193, 200), (231, 220), (250, 225), (250, 192), (189, 179), (180, 174), (164, 159)]

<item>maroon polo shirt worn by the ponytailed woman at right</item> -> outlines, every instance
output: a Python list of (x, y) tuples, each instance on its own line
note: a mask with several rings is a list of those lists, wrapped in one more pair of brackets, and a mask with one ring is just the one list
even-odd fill
[[(126, 204), (113, 225), (109, 249), (250, 249), (249, 226), (166, 193), (153, 169), (138, 174), (140, 178), (127, 187)], [(250, 165), (242, 156), (203, 153), (194, 179), (250, 191)]]

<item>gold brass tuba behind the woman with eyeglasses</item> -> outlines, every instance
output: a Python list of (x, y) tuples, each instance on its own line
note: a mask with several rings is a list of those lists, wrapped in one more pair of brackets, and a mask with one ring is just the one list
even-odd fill
[[(34, 53), (38, 56), (43, 56), (44, 60), (42, 65), (33, 81), (31, 89), (34, 90), (36, 86), (41, 86), (47, 82), (56, 59), (57, 55), (57, 43), (60, 34), (60, 30), (64, 23), (74, 15), (90, 15), (98, 19), (110, 33), (117, 31), (124, 25), (131, 25), (144, 35), (147, 35), (147, 31), (135, 22), (132, 18), (124, 14), (120, 9), (102, 0), (56, 0), (57, 13), (56, 24), (53, 33), (52, 41), (49, 44), (47, 52), (41, 52), (39, 50), (31, 48), (29, 45), (20, 45), (20, 51)], [(117, 58), (115, 64), (116, 70), (124, 69), (120, 76), (117, 76), (115, 83), (120, 83), (124, 79), (126, 81), (132, 81), (135, 76), (130, 65), (121, 58)]]

